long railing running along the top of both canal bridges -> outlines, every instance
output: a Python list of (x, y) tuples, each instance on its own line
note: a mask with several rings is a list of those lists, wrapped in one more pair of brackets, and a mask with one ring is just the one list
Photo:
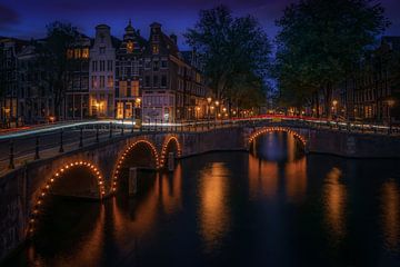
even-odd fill
[(17, 166), (32, 160), (54, 157), (59, 154), (77, 150), (84, 146), (102, 142), (114, 138), (123, 138), (142, 132), (201, 132), (232, 127), (301, 127), (332, 131), (360, 132), (370, 135), (400, 136), (399, 128), (373, 125), (356, 125), (332, 121), (307, 120), (299, 118), (246, 118), (226, 120), (191, 120), (180, 123), (163, 121), (144, 122), (140, 127), (130, 121), (81, 122), (71, 126), (58, 126), (0, 136), (0, 175)]

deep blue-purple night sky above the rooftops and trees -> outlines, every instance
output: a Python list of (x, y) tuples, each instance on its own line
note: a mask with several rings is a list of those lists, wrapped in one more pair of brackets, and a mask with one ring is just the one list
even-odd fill
[[(72, 22), (82, 32), (93, 36), (94, 26), (107, 23), (111, 33), (122, 37), (123, 28), (132, 19), (134, 28), (148, 38), (149, 24), (161, 22), (167, 33), (177, 33), (181, 48), (186, 48), (181, 34), (192, 27), (200, 9), (224, 3), (234, 14), (251, 13), (273, 38), (274, 20), (282, 14), (288, 2), (296, 0), (0, 0), (0, 36), (18, 38), (44, 37), (44, 26), (53, 20)], [(387, 34), (400, 36), (400, 0), (381, 0), (392, 26)]]

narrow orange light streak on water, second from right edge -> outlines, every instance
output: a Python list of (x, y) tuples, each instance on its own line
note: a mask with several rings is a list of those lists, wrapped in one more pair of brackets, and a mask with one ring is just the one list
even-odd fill
[(336, 240), (341, 240), (346, 235), (347, 189), (340, 182), (341, 175), (336, 167), (328, 172), (322, 196), (326, 222)]

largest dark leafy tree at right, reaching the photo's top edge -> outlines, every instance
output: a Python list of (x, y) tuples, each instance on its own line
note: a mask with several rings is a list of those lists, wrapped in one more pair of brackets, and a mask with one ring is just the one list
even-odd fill
[(333, 86), (389, 26), (381, 4), (370, 0), (301, 0), (288, 6), (276, 23), (276, 77), (282, 95), (318, 105), (322, 93), (328, 116)]

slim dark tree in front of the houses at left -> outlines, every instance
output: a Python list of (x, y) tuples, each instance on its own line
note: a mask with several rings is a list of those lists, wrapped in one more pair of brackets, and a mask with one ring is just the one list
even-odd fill
[(71, 23), (54, 21), (47, 27), (47, 38), (38, 48), (39, 60), (43, 66), (46, 81), (54, 99), (54, 115), (62, 115), (62, 101), (70, 81), (67, 50), (79, 37), (79, 32)]

